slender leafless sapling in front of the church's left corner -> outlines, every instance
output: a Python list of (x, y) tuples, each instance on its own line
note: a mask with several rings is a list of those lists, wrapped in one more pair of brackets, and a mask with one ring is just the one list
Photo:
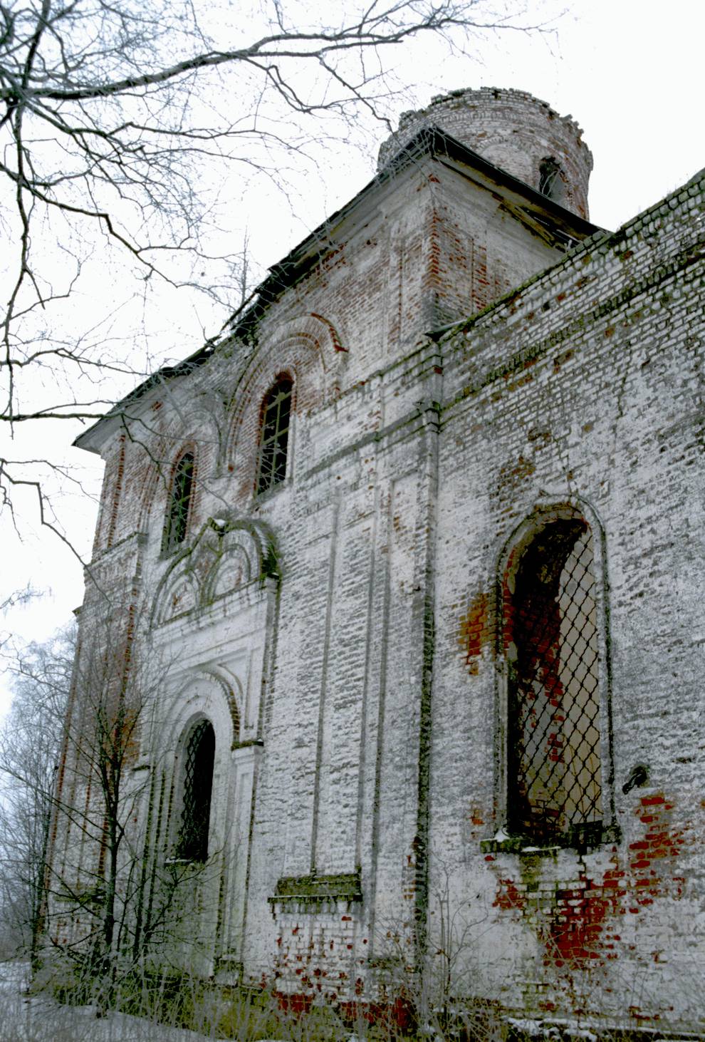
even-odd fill
[(149, 694), (145, 676), (131, 673), (128, 615), (108, 615), (77, 648), (45, 865), (45, 946), (81, 967), (89, 984), (109, 975), (124, 946), (124, 905), (143, 853), (129, 827), (141, 795), (130, 768)]

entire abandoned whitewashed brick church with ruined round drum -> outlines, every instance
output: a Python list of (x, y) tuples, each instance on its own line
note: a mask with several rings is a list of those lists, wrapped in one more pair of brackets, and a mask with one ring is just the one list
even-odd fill
[[(78, 439), (77, 672), (141, 698), (122, 893), (155, 939), (180, 873), (206, 975), (374, 1004), (445, 959), (507, 1011), (705, 1029), (705, 173), (609, 232), (590, 168), (518, 91), (405, 114)], [(72, 822), (75, 894), (105, 859)]]

